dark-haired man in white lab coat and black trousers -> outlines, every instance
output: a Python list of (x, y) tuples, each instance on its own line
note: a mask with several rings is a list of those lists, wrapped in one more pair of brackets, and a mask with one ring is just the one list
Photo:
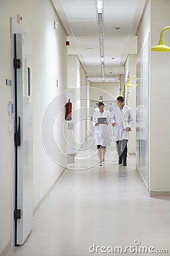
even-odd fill
[(119, 164), (123, 163), (123, 166), (127, 166), (127, 154), (128, 154), (128, 138), (129, 131), (133, 126), (134, 119), (131, 115), (131, 109), (125, 105), (124, 98), (117, 98), (118, 107), (113, 113), (112, 125), (115, 128), (115, 141), (117, 143), (117, 151), (119, 157)]

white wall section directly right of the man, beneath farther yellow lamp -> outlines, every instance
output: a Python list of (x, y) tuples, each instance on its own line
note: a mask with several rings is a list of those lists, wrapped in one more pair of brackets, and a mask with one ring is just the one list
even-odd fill
[[(128, 59), (125, 63), (125, 81), (128, 80), (128, 76), (136, 76), (136, 62), (137, 62), (137, 55), (131, 54), (128, 55)], [(126, 99), (127, 99), (127, 105), (131, 108), (131, 114), (134, 118), (134, 125), (131, 133), (129, 134), (129, 153), (135, 153), (136, 152), (136, 81), (135, 79), (131, 80), (131, 84), (134, 85), (134, 87), (126, 87)]]

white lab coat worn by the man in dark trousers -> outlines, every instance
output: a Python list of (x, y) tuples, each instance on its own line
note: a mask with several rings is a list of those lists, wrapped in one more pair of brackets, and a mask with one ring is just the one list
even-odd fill
[(115, 130), (115, 141), (122, 141), (122, 139), (129, 138), (129, 131), (127, 127), (131, 129), (134, 123), (134, 119), (131, 115), (131, 109), (128, 106), (120, 108), (119, 106), (114, 110), (112, 123), (116, 123), (114, 126)]

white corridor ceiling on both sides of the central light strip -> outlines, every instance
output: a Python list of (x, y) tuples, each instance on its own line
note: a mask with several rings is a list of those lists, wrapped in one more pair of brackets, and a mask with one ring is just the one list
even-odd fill
[[(128, 54), (137, 53), (136, 32), (146, 0), (103, 2), (105, 82), (113, 82), (124, 73)], [(71, 42), (68, 54), (79, 57), (90, 81), (102, 81), (96, 0), (53, 0), (53, 3)]]

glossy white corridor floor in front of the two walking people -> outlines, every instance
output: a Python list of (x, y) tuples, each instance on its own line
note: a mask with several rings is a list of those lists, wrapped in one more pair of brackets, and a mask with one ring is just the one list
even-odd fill
[[(88, 256), (94, 243), (125, 247), (135, 240), (170, 255), (170, 200), (151, 199), (135, 171), (135, 157), (129, 157), (128, 167), (118, 166), (112, 162), (114, 149), (103, 167), (68, 170), (36, 214), (25, 244), (7, 256)], [(95, 151), (80, 151), (78, 158)], [(93, 165), (96, 158), (76, 160), (70, 168)]]

